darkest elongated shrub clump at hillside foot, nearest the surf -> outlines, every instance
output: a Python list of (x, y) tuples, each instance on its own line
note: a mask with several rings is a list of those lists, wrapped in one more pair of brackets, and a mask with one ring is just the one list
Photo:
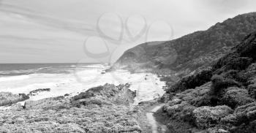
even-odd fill
[(203, 70), (199, 72), (197, 75), (191, 75), (188, 77), (184, 77), (178, 81), (175, 85), (169, 88), (167, 93), (170, 92), (179, 92), (184, 91), (189, 88), (195, 88), (197, 86), (202, 86), (204, 83), (207, 83), (211, 80), (212, 71), (211, 70)]

